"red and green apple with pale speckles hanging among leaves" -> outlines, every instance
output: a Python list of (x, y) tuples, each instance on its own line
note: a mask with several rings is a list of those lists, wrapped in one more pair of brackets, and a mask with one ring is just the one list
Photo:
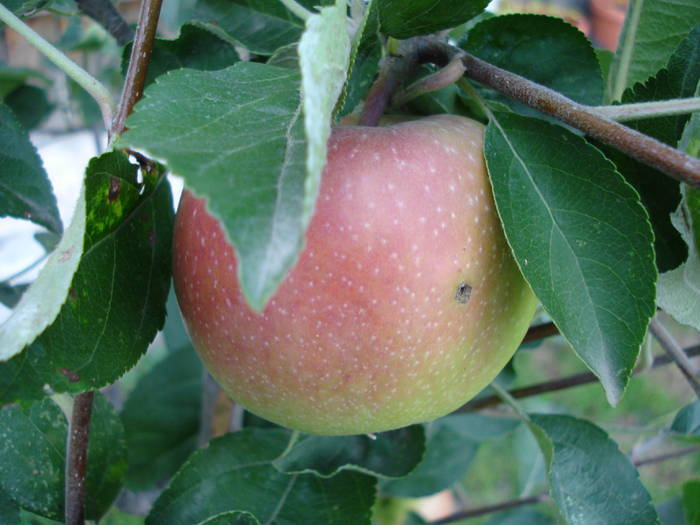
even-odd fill
[(536, 305), (496, 213), (483, 126), (464, 117), (335, 128), (306, 246), (261, 314), (189, 192), (174, 253), (182, 315), (216, 381), (251, 412), (314, 434), (455, 410), (507, 363)]

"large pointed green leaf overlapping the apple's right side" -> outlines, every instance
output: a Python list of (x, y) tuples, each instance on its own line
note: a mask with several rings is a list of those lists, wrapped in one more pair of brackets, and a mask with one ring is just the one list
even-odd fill
[(523, 275), (619, 401), (655, 312), (653, 234), (636, 192), (583, 138), (496, 113), (485, 155)]

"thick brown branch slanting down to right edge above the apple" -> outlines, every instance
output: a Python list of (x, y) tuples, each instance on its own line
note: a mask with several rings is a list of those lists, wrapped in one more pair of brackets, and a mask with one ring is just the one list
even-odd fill
[(700, 159), (615, 122), (598, 113), (594, 107), (574, 102), (556, 91), (434, 38), (422, 38), (416, 48), (421, 62), (446, 65), (459, 56), (466, 69), (465, 77), (553, 116), (674, 179), (700, 187)]

